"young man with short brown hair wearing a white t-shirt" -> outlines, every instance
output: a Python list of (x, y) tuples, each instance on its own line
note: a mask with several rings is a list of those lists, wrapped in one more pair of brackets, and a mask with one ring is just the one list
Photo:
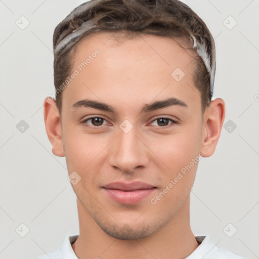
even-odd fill
[(190, 227), (190, 191), (225, 118), (213, 38), (188, 6), (93, 0), (55, 29), (44, 117), (80, 233), (43, 258), (243, 258)]

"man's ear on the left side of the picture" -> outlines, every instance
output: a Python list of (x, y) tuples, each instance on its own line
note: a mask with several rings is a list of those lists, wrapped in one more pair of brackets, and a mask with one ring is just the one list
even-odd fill
[(60, 114), (53, 98), (47, 97), (44, 101), (44, 121), (48, 138), (52, 144), (52, 153), (56, 156), (65, 156)]

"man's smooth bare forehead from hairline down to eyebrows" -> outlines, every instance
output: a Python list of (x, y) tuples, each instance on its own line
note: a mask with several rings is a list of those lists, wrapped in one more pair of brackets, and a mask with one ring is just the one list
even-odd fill
[(70, 104), (83, 96), (106, 99), (106, 103), (118, 97), (145, 99), (147, 103), (158, 96), (200, 102), (198, 90), (192, 90), (194, 66), (192, 54), (174, 39), (146, 34), (124, 37), (99, 31), (78, 42), (72, 68), (78, 75), (64, 89), (64, 98)]

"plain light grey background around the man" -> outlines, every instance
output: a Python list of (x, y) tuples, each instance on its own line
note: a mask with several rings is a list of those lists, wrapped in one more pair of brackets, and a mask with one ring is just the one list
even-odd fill
[[(2, 259), (32, 258), (57, 248), (67, 235), (78, 234), (76, 196), (67, 180), (65, 158), (52, 154), (42, 104), (54, 91), (54, 28), (83, 2), (0, 1)], [(232, 132), (223, 128), (214, 155), (200, 161), (191, 194), (192, 230), (209, 235), (221, 248), (258, 258), (259, 1), (184, 2), (215, 38), (213, 97), (226, 102), (224, 123), (236, 124)], [(30, 23), (24, 30), (16, 25), (21, 16)], [(232, 29), (224, 25), (229, 16), (237, 21)], [(225, 24), (233, 22), (230, 18)], [(24, 133), (16, 127), (21, 120), (29, 125)], [(25, 237), (19, 235), (25, 231), (22, 223), (29, 228)], [(229, 223), (234, 227), (227, 228), (228, 234), (237, 229), (232, 237), (224, 232)]]

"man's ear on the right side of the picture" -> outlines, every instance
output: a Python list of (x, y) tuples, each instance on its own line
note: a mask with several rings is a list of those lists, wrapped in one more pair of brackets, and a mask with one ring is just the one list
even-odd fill
[(203, 116), (201, 153), (204, 157), (211, 156), (218, 144), (225, 119), (225, 102), (217, 98), (210, 102)]

